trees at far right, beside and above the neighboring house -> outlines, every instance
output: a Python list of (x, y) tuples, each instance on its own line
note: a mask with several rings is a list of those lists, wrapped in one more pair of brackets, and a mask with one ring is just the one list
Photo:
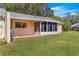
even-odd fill
[(71, 25), (79, 23), (79, 13), (76, 12), (75, 15), (71, 15), (70, 13), (67, 13), (64, 17), (64, 24), (63, 29), (64, 30), (71, 30)]

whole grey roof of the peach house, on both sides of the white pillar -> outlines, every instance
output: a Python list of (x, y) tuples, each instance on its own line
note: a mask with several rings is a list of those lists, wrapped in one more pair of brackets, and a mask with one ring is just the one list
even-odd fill
[[(5, 16), (6, 12), (7, 11), (5, 9), (0, 8), (0, 15)], [(34, 20), (34, 21), (47, 21), (47, 22), (61, 23), (59, 21), (56, 21), (56, 20), (48, 18), (48, 17), (27, 15), (27, 14), (22, 14), (22, 13), (15, 13), (15, 12), (10, 12), (10, 16), (11, 16), (12, 19)]]

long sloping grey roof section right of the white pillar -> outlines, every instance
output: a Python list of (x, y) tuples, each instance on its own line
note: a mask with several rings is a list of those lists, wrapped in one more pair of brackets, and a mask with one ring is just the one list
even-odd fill
[(35, 20), (35, 21), (59, 22), (48, 17), (33, 16), (33, 15), (27, 15), (27, 14), (15, 13), (15, 12), (11, 12), (11, 18)]

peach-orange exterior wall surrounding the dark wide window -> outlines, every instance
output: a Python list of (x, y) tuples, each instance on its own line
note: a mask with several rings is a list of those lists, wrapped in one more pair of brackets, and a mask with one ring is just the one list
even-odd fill
[[(26, 28), (15, 28), (15, 22), (26, 23)], [(12, 19), (12, 30), (16, 36), (33, 35), (34, 34), (34, 21), (24, 21)]]

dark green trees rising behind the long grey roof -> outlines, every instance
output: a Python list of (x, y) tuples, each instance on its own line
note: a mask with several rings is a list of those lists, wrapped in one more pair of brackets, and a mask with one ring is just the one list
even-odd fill
[(51, 16), (53, 11), (48, 8), (46, 3), (7, 3), (6, 9), (8, 11), (25, 13), (37, 16)]

